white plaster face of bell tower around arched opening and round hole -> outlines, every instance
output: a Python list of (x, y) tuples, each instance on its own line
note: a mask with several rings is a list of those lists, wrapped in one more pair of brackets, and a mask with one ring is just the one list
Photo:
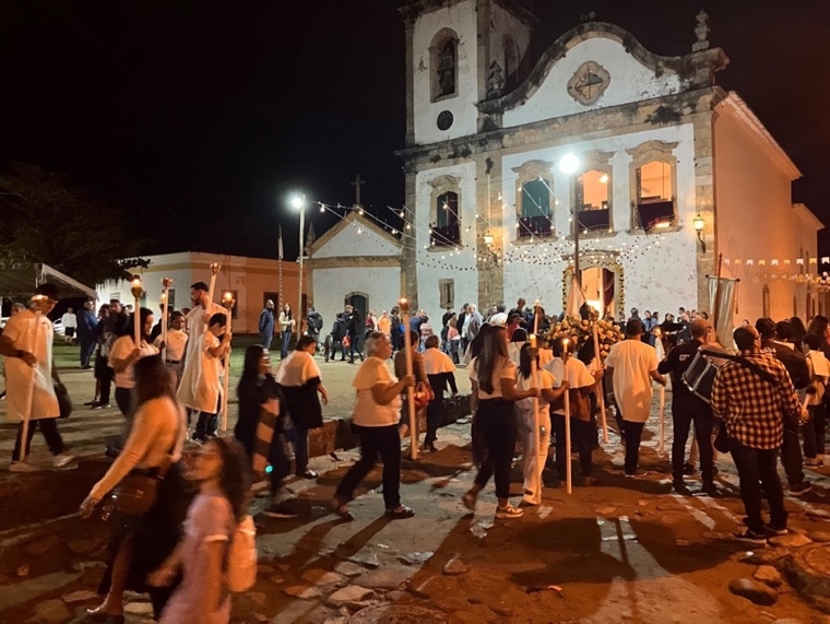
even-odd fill
[[(442, 28), (452, 28), (459, 36), (456, 95), (430, 102), (431, 76), (438, 68), (430, 66), (429, 46)], [(465, 137), (476, 132), (478, 110), (477, 48), (475, 2), (463, 0), (418, 17), (413, 32), (413, 90), (415, 143), (427, 144)], [(436, 125), (442, 110), (452, 113), (449, 130)]]

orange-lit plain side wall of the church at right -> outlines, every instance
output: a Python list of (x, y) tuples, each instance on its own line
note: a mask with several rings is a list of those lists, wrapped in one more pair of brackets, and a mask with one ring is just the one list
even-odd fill
[[(806, 318), (807, 285), (784, 279), (782, 273), (794, 275), (802, 269), (815, 272), (807, 262), (798, 267), (796, 258), (802, 254), (815, 258), (817, 237), (815, 225), (792, 207), (790, 176), (727, 106), (719, 107), (714, 149), (719, 251), (730, 260), (724, 274), (740, 279), (734, 322), (745, 318), (755, 322), (762, 316), (764, 284), (770, 289), (773, 319), (793, 315)], [(747, 266), (747, 259), (752, 266)], [(759, 266), (761, 259), (766, 266)], [(778, 267), (772, 266), (772, 259), (779, 260)], [(791, 261), (788, 266), (785, 259)]]

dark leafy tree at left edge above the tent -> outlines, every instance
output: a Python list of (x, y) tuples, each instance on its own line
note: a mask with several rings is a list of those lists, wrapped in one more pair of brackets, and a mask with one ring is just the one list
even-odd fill
[(0, 262), (44, 262), (94, 286), (146, 264), (133, 258), (140, 246), (117, 209), (63, 174), (22, 163), (0, 173)]

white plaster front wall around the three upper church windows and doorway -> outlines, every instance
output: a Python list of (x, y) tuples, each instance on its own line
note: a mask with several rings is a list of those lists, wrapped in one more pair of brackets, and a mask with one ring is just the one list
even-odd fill
[[(631, 156), (627, 149), (650, 140), (677, 142), (674, 154), (677, 163), (678, 222), (679, 232), (657, 234), (629, 234), (630, 223), (630, 173)], [(583, 236), (580, 250), (585, 254), (621, 251), (620, 260), (625, 269), (625, 306), (630, 310), (657, 309), (661, 313), (674, 311), (678, 306), (697, 307), (697, 269), (696, 234), (691, 226), (695, 212), (695, 163), (693, 128), (690, 123), (668, 128), (655, 128), (644, 132), (632, 132), (595, 141), (574, 141), (567, 145), (533, 150), (521, 154), (505, 156), (501, 193), (508, 208), (505, 210), (503, 235), (507, 237), (506, 249), (508, 263), (505, 266), (506, 303), (514, 302), (519, 296), (527, 301), (541, 298), (548, 314), (558, 314), (561, 309), (561, 279), (566, 262), (558, 258), (573, 254), (572, 240), (565, 240), (570, 233), (568, 222), (570, 192), (568, 176), (556, 167), (559, 158), (567, 154), (581, 154), (591, 150), (613, 152), (613, 220), (615, 235), (592, 238)], [(517, 188), (515, 174), (512, 168), (529, 161), (554, 163), (554, 193), (559, 200), (555, 205), (555, 240), (536, 244), (514, 243)], [(501, 233), (500, 233), (501, 234)], [(637, 246), (637, 247), (635, 247)], [(527, 258), (521, 258), (522, 254)], [(542, 258), (541, 255), (546, 257)], [(535, 262), (535, 263), (534, 263)], [(582, 268), (588, 268), (584, 261)], [(495, 303), (495, 302), (487, 302)], [(485, 305), (485, 302), (482, 302)]]

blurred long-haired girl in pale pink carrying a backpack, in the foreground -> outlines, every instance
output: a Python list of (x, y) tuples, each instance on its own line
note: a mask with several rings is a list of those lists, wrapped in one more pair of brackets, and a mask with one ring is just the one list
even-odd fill
[(199, 494), (188, 509), (185, 539), (150, 582), (166, 586), (181, 572), (181, 585), (162, 612), (159, 624), (227, 624), (230, 596), (225, 587), (227, 544), (248, 513), (245, 449), (221, 437), (195, 456), (188, 476)]

